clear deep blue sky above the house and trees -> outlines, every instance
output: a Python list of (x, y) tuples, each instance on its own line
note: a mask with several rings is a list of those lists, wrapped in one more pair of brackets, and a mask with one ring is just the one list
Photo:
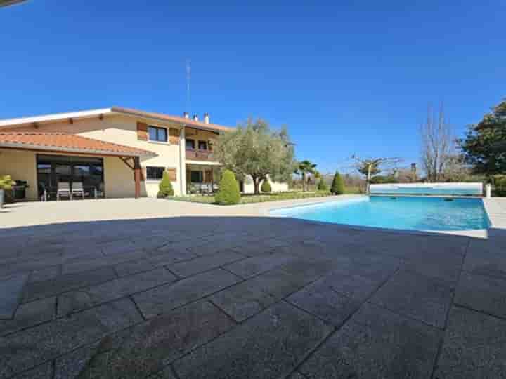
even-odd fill
[(287, 124), (321, 171), (418, 161), (443, 101), (457, 133), (506, 96), (506, 2), (30, 0), (0, 8), (0, 119), (119, 105)]

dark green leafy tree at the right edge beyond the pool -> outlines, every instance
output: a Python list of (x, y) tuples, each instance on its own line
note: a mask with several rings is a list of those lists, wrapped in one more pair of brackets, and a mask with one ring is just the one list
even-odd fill
[(458, 140), (458, 144), (474, 173), (506, 173), (506, 100), (478, 124), (469, 126), (465, 139)]

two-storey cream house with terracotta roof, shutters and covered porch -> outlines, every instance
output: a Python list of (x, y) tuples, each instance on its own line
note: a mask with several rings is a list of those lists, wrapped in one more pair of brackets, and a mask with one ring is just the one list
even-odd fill
[[(56, 199), (59, 182), (86, 197), (156, 197), (167, 171), (176, 194), (212, 192), (221, 164), (213, 146), (233, 128), (123, 107), (0, 121), (0, 173), (27, 182), (26, 199)], [(244, 192), (252, 184), (241, 183)], [(286, 183), (272, 183), (287, 190)]]

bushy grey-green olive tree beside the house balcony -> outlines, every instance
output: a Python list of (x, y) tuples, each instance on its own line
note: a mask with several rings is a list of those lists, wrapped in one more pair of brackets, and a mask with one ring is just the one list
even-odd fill
[(235, 131), (220, 135), (216, 154), (238, 178), (252, 178), (255, 194), (263, 180), (285, 182), (294, 172), (294, 147), (287, 129), (271, 131), (262, 119), (248, 119)]

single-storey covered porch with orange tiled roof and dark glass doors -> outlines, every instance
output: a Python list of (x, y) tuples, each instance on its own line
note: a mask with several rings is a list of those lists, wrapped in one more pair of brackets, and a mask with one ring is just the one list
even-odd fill
[(155, 155), (67, 133), (0, 133), (0, 173), (27, 185), (16, 201), (141, 197), (141, 157)]

